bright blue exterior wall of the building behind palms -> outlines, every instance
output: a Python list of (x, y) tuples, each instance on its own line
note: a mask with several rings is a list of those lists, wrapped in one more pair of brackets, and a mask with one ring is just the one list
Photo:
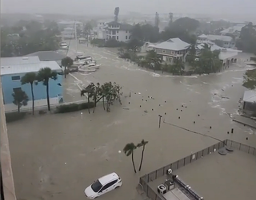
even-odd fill
[[(14, 97), (12, 94), (14, 93), (14, 88), (22, 88), (22, 91), (26, 92), (26, 95), (29, 97), (29, 100), (32, 100), (31, 96), (31, 87), (30, 84), (23, 84), (20, 80), (12, 80), (12, 76), (24, 76), (26, 73), (19, 74), (10, 74), (10, 75), (2, 75), (2, 94), (4, 104), (13, 104)], [(62, 86), (62, 75), (58, 75), (57, 80), (49, 80), (49, 96), (50, 98), (62, 96), (63, 88)], [(42, 100), (46, 99), (46, 86), (42, 84), (42, 82), (38, 82), (38, 85), (33, 84), (34, 88), (34, 100)]]

